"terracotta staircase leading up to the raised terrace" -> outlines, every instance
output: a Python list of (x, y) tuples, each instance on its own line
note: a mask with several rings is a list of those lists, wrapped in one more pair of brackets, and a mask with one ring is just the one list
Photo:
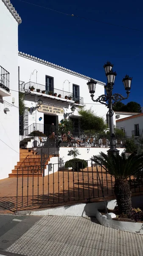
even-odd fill
[[(49, 157), (45, 155), (45, 169), (46, 165), (50, 161), (50, 158), (54, 155), (50, 155)], [(14, 166), (12, 173), (8, 175), (9, 178), (11, 177), (42, 177), (41, 173), (41, 155), (36, 154), (31, 149), (22, 149), (20, 148), (20, 161), (17, 162), (17, 165)], [(18, 173), (17, 173), (18, 170)]]

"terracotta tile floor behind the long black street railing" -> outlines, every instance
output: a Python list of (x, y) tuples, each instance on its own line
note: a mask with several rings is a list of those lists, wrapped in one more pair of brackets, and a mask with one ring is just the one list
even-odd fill
[[(104, 188), (104, 196), (112, 196), (114, 178), (106, 174), (101, 167), (98, 167), (98, 173)], [(93, 167), (93, 171), (92, 167), (89, 167), (79, 173), (64, 170), (44, 178), (19, 177), (18, 186), (17, 178), (6, 178), (0, 180), (0, 207), (2, 211), (3, 208), (15, 211), (16, 203), (17, 209), (23, 210), (51, 207), (53, 204), (75, 204), (89, 198), (90, 201), (103, 200), (99, 177), (96, 167)]]

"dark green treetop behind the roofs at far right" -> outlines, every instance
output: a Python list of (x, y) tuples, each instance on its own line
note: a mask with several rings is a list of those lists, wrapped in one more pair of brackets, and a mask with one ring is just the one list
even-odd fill
[(122, 102), (117, 102), (113, 106), (114, 111), (121, 111), (121, 112), (135, 112), (140, 113), (141, 112), (141, 106), (137, 102), (128, 102), (126, 105)]

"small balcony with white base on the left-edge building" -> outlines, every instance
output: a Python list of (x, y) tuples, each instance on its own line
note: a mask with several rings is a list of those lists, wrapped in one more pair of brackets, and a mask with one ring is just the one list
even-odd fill
[(0, 66), (0, 96), (11, 96), (9, 93), (9, 73)]

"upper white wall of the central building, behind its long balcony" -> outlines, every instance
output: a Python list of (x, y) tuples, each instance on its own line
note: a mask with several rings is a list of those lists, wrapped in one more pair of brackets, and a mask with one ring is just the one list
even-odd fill
[[(19, 55), (19, 66), (20, 66), (20, 80), (25, 83), (29, 82), (31, 73), (36, 69), (37, 70), (37, 83), (45, 85), (45, 75), (52, 76), (54, 78), (54, 88), (64, 91), (69, 91), (69, 83), (70, 81), (70, 93), (73, 92), (73, 84), (77, 84), (80, 87), (80, 97), (84, 98), (84, 104), (90, 103), (86, 105), (86, 108), (90, 108), (91, 106), (95, 110), (98, 116), (101, 116), (106, 119), (107, 108), (105, 105), (102, 105), (97, 102), (93, 102), (90, 93), (87, 87), (87, 79), (78, 77), (76, 75), (66, 73), (62, 70), (58, 70), (54, 67), (49, 67), (46, 64), (42, 64), (36, 62), (32, 59), (25, 58)], [(65, 81), (65, 80), (68, 81)], [(98, 79), (98, 77), (96, 78)], [(36, 82), (36, 72), (31, 76), (31, 81)], [(63, 89), (63, 82), (64, 89)], [(104, 94), (104, 85), (96, 84), (95, 91), (95, 99), (98, 98), (101, 94)], [(53, 102), (54, 103), (54, 102)]]

